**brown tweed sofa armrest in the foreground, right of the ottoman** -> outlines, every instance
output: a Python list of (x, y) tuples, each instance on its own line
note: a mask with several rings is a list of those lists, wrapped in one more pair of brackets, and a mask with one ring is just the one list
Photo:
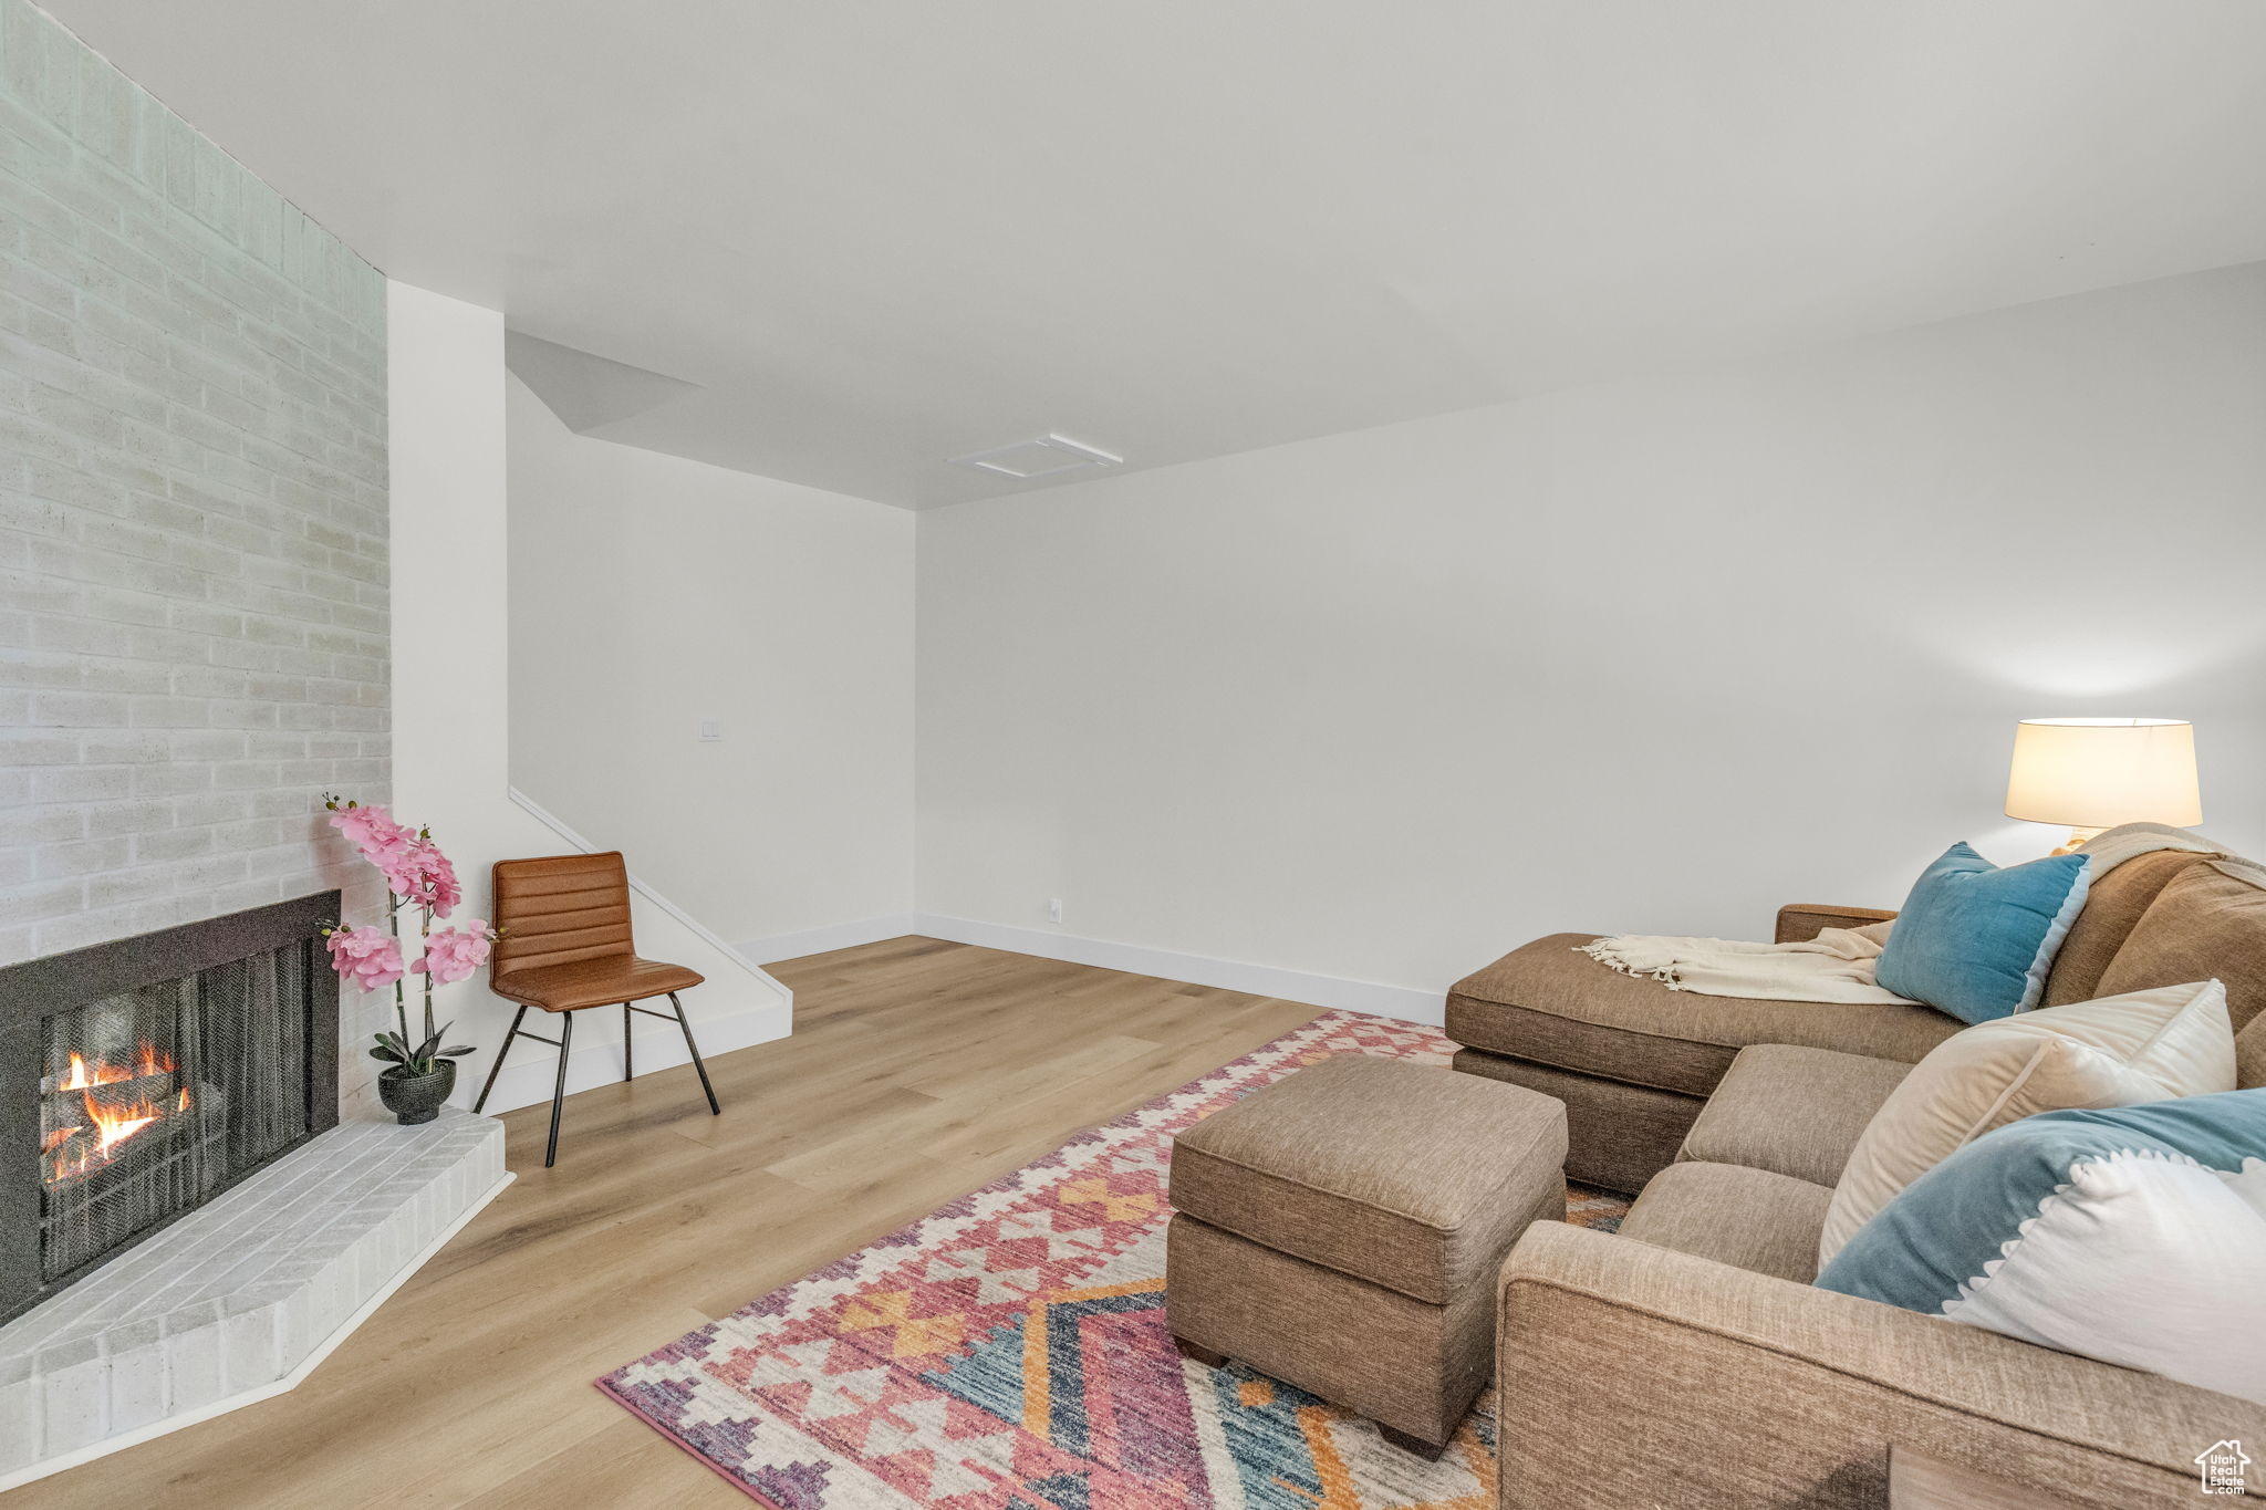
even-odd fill
[(1561, 1222), (1500, 1284), (1505, 1510), (1879, 1510), (1890, 1447), (2071, 1505), (2193, 1505), (2196, 1453), (2266, 1440), (2230, 1395)]

